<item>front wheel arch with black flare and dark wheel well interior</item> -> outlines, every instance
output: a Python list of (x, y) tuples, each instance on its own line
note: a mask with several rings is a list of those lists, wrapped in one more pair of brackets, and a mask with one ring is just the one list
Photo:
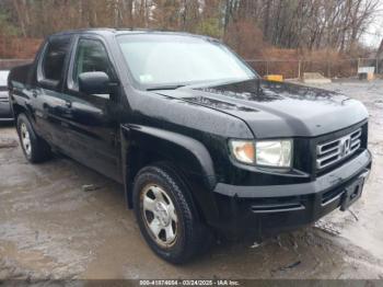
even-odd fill
[(218, 208), (212, 191), (217, 184), (212, 159), (196, 139), (159, 128), (121, 126), (121, 165), (128, 208), (134, 208), (132, 185), (136, 174), (156, 162), (167, 162), (189, 186), (190, 196), (206, 221), (214, 220)]

